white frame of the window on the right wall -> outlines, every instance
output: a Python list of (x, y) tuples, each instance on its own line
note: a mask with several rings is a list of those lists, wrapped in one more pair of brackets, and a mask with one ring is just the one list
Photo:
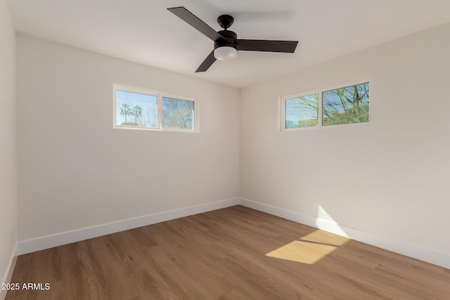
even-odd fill
[[(368, 89), (368, 122), (359, 122), (359, 123), (346, 123), (346, 124), (333, 124), (333, 125), (323, 125), (323, 99), (322, 95), (326, 91), (333, 91), (335, 89), (343, 89), (349, 86), (356, 86), (359, 84), (366, 84), (368, 83), (369, 89)], [(314, 93), (318, 93), (318, 107), (317, 107), (317, 126), (307, 126), (307, 127), (296, 127), (296, 128), (286, 128), (286, 100), (292, 99), (292, 98), (299, 98), (303, 96), (309, 96)], [(370, 124), (372, 122), (372, 109), (373, 109), (373, 84), (370, 78), (364, 78), (354, 81), (347, 81), (345, 84), (335, 84), (333, 86), (325, 86), (317, 89), (308, 89), (304, 91), (299, 91), (296, 93), (290, 93), (285, 96), (279, 97), (280, 101), (280, 130), (281, 131), (298, 131), (298, 130), (311, 130), (311, 129), (322, 129), (322, 128), (333, 128), (335, 126), (351, 126), (354, 124)]]

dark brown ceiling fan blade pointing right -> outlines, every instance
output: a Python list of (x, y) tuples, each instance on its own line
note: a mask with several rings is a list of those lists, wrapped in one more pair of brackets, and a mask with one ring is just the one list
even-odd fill
[(238, 50), (294, 53), (298, 41), (267, 41), (264, 39), (238, 39)]

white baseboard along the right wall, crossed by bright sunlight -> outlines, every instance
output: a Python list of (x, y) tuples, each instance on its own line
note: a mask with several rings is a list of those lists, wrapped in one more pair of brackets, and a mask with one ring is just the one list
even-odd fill
[(428, 263), (433, 263), (437, 266), (450, 268), (450, 254), (440, 252), (436, 249), (423, 247), (421, 245), (412, 244), (410, 242), (402, 240), (394, 240), (390, 237), (375, 235), (373, 233), (368, 233), (364, 230), (359, 230), (348, 226), (342, 226), (333, 221), (328, 221), (324, 219), (314, 219), (311, 216), (305, 216), (303, 214), (299, 214), (294, 211), (281, 209), (279, 207), (274, 207), (268, 204), (263, 204), (248, 199), (241, 198), (240, 204), (245, 207), (250, 207), (252, 209), (257, 209), (259, 211), (264, 211), (267, 214), (279, 216), (283, 219), (288, 219), (290, 221), (302, 223), (304, 225), (319, 228), (321, 230), (325, 230), (330, 233), (335, 233), (337, 235), (349, 237), (352, 240), (357, 240), (359, 242), (371, 244), (372, 246), (375, 247), (380, 247), (392, 252), (396, 252), (398, 254), (403, 254), (412, 257), (414, 259), (418, 259), (420, 261), (426, 261)]

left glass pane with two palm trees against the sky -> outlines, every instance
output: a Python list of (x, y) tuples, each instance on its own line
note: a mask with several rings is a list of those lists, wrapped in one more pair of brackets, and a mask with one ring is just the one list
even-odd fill
[(115, 91), (117, 126), (157, 127), (158, 97), (130, 91)]

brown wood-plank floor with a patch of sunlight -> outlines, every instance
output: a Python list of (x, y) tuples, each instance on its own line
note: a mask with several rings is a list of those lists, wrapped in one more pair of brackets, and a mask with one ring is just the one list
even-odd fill
[(450, 299), (450, 270), (236, 206), (21, 255), (6, 299)]

